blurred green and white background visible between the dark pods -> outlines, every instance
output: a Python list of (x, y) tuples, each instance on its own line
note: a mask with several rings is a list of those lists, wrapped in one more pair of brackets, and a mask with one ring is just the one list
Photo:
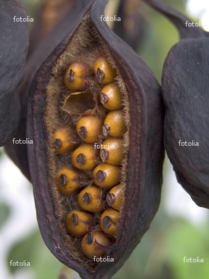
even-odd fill
[[(40, 0), (24, 0), (28, 13), (36, 18)], [(164, 1), (186, 12), (186, 1)], [(110, 3), (111, 4), (111, 3)], [(162, 65), (178, 32), (160, 13), (141, 3), (143, 36), (137, 53), (161, 80)], [(188, 15), (188, 14), (187, 14)], [(192, 15), (189, 15), (192, 17)], [(193, 18), (194, 19), (194, 18)], [(196, 22), (199, 20), (195, 19)], [(32, 26), (31, 26), (32, 27)], [(164, 160), (162, 202), (148, 232), (114, 279), (207, 279), (209, 278), (209, 218), (176, 182), (167, 157)], [(18, 207), (19, 206), (19, 207)], [(49, 252), (36, 223), (32, 187), (0, 149), (0, 278), (57, 279), (63, 265)], [(203, 263), (183, 258), (203, 259)], [(26, 262), (30, 266), (10, 266)], [(68, 273), (68, 278), (79, 278)]]

